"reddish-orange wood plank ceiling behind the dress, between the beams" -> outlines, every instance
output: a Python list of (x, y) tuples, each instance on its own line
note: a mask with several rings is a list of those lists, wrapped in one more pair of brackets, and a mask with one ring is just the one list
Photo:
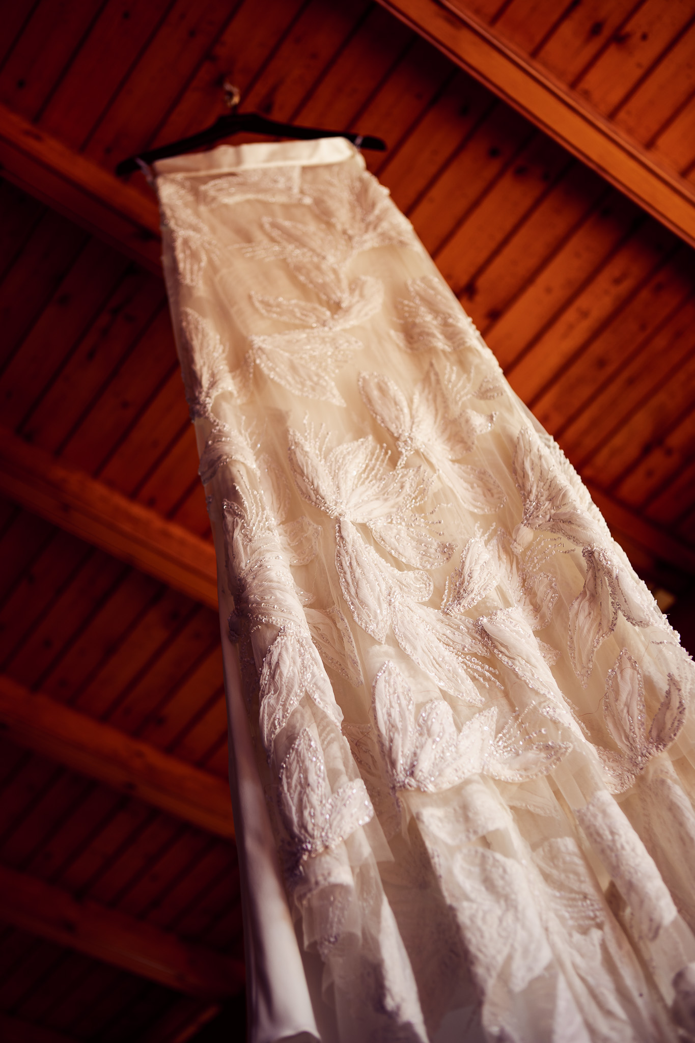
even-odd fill
[[(591, 483), (645, 578), (687, 595), (695, 575), (692, 247), (369, 0), (262, 6), (259, 17), (258, 0), (5, 2), (0, 102), (75, 169), (89, 161), (111, 171), (132, 152), (205, 126), (222, 111), (225, 77), (245, 110), (383, 137), (389, 151), (368, 153), (370, 169), (513, 387)], [(695, 0), (467, 7), (695, 184)], [(168, 755), (166, 778), (177, 765), (226, 777), (214, 595), (196, 593), (208, 588), (180, 575), (163, 583), (166, 566), (131, 547), (148, 517), (152, 532), (192, 554), (209, 540), (195, 439), (155, 252), (145, 266), (133, 262), (136, 250), (116, 248), (118, 229), (104, 242), (85, 231), (98, 224), (91, 216), (64, 216), (54, 181), (34, 181), (34, 198), (18, 188), (28, 184), (19, 167), (6, 163), (5, 172), (0, 1029), (29, 1041), (182, 1041), (224, 996), (203, 995), (193, 980), (172, 988), (181, 944), (184, 961), (193, 946), (218, 959), (229, 993), (241, 983), (237, 965), (223, 963), (243, 954), (233, 843), (223, 827), (195, 825), (182, 805), (157, 803), (136, 773), (128, 793), (123, 766), (136, 742)], [(140, 175), (132, 190), (146, 213)], [(25, 443), (21, 468), (8, 431)], [(41, 477), (51, 458), (58, 470), (44, 481), (48, 492), (31, 499), (18, 468)], [(75, 503), (69, 511), (60, 500), (70, 468), (86, 504), (79, 525)], [(99, 490), (126, 514), (138, 505), (125, 542), (97, 534)], [(51, 700), (48, 709), (73, 711), (48, 713), (47, 739), (13, 710), (11, 699), (29, 693)], [(121, 736), (118, 771), (67, 757), (56, 729), (68, 734), (75, 714), (107, 726), (98, 733), (106, 746)], [(182, 779), (198, 777), (185, 771)], [(36, 892), (46, 908), (31, 918), (18, 909), (36, 881), (48, 888)], [(78, 905), (72, 945), (49, 922), (58, 899)], [(168, 978), (148, 980), (132, 961), (109, 957), (105, 942), (90, 949), (84, 931), (95, 923), (117, 929), (109, 913), (127, 918), (132, 937), (159, 931)], [(181, 998), (185, 990), (194, 995)], [(214, 1022), (201, 1040), (204, 1033), (214, 1038)]]

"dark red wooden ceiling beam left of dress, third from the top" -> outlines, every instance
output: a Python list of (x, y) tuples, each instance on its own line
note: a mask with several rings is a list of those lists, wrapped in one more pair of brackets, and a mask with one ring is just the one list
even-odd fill
[(4, 675), (0, 675), (0, 724), (18, 746), (233, 840), (229, 786), (209, 772), (30, 692)]

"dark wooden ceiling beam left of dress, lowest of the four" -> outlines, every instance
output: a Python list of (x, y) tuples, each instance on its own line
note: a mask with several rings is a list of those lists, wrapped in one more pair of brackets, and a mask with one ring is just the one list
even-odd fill
[(220, 999), (244, 986), (241, 961), (5, 866), (0, 919), (191, 996)]

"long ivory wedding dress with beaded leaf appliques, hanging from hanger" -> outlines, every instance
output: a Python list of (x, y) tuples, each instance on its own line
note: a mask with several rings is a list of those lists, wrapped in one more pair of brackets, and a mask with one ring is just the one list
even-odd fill
[(348, 142), (156, 188), (250, 1038), (695, 1039), (693, 663), (576, 472)]

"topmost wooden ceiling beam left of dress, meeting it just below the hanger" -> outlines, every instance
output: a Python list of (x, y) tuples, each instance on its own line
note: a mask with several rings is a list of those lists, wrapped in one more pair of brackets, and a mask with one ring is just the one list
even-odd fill
[(0, 104), (0, 174), (162, 274), (159, 212), (131, 185)]

